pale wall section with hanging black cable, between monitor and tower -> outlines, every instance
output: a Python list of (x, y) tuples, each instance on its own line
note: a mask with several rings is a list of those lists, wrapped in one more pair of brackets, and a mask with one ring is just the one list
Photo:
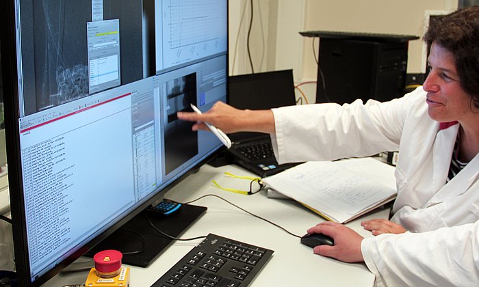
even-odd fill
[[(305, 26), (306, 1), (253, 1), (249, 44), (255, 72), (302, 70), (303, 39), (298, 32)], [(247, 52), (250, 7), (250, 0), (229, 1), (230, 74), (252, 72)], [(300, 75), (295, 74), (295, 79), (298, 77)]]

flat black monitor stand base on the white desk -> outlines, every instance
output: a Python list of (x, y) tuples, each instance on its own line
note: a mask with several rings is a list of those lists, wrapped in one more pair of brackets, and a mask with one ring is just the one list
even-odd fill
[[(151, 213), (147, 216), (156, 228), (173, 237), (178, 237), (206, 210), (204, 206), (183, 204), (181, 209), (170, 217), (159, 217)], [(93, 257), (99, 251), (115, 249), (122, 252), (122, 263), (148, 267), (150, 262), (157, 258), (172, 241), (151, 227), (146, 215), (142, 212), (90, 249), (85, 256)], [(140, 252), (134, 253), (135, 251)]]

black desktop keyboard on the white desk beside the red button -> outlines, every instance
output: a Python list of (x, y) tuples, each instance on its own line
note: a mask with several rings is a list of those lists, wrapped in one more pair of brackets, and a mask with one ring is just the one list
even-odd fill
[(224, 238), (208, 236), (152, 286), (248, 286), (274, 251)]

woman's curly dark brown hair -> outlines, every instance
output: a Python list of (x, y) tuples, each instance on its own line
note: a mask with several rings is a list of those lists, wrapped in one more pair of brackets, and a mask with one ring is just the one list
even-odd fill
[(431, 18), (424, 41), (454, 55), (461, 87), (479, 109), (479, 5)]

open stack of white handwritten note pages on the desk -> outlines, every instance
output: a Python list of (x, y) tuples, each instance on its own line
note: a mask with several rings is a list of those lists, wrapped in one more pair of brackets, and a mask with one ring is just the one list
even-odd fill
[[(364, 160), (365, 168), (371, 164), (385, 165), (375, 159)], [(355, 169), (358, 164), (361, 162), (354, 163)], [(347, 166), (339, 161), (310, 161), (263, 181), (268, 187), (339, 223), (346, 223), (396, 197), (396, 189), (353, 172)]]

